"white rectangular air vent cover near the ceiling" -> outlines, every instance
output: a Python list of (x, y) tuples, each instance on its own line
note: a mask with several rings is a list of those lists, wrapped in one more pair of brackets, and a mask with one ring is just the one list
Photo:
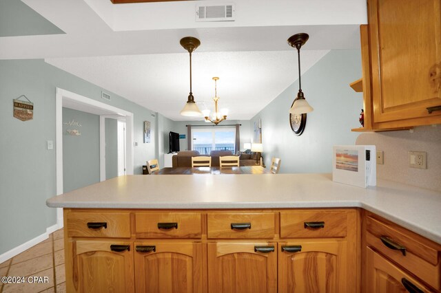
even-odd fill
[(196, 4), (196, 21), (234, 21), (234, 3)]

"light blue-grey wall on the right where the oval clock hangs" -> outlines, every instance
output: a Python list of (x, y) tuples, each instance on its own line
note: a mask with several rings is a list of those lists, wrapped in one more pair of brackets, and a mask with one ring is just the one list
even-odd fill
[(360, 77), (360, 50), (331, 51), (303, 74), (302, 90), (314, 111), (300, 136), (291, 130), (288, 113), (298, 80), (254, 116), (251, 128), (262, 122), (265, 165), (276, 157), (282, 160), (280, 173), (331, 173), (332, 146), (355, 144), (358, 136), (351, 128), (359, 127), (362, 95), (349, 83)]

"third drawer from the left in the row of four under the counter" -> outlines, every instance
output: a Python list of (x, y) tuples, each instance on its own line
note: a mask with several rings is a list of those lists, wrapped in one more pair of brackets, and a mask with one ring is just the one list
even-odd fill
[(273, 238), (274, 213), (208, 213), (207, 237)]

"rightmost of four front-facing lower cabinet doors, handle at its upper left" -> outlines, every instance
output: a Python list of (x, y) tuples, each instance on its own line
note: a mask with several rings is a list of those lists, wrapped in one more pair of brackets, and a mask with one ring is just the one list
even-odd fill
[(279, 292), (356, 292), (348, 269), (346, 241), (278, 243)]

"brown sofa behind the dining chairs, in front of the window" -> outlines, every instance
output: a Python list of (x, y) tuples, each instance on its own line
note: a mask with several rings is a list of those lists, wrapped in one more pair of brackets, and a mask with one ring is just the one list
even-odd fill
[[(172, 167), (191, 167), (192, 157), (201, 155), (198, 151), (180, 151), (172, 157)], [(211, 151), (212, 166), (219, 166), (219, 157), (224, 155), (233, 155), (232, 151)], [(240, 166), (254, 166), (256, 161), (260, 163), (260, 153), (240, 153)]]

